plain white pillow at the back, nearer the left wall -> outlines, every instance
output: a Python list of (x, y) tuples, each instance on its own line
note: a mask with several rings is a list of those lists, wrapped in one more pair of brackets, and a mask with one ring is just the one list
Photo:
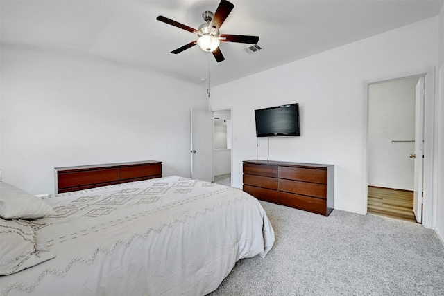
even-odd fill
[(0, 217), (3, 219), (37, 219), (57, 214), (53, 208), (22, 189), (0, 182)]

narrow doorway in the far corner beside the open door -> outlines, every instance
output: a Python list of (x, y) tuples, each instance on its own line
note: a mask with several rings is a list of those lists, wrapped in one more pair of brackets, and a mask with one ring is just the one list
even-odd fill
[(214, 183), (231, 186), (232, 159), (231, 109), (213, 111)]

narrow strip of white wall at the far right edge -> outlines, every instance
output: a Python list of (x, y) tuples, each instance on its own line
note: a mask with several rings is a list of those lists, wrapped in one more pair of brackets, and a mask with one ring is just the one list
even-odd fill
[(438, 57), (438, 176), (436, 178), (436, 232), (444, 243), (444, 5), (439, 13)]

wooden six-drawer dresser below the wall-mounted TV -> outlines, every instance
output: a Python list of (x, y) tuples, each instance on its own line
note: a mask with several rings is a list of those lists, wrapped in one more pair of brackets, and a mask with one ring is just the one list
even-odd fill
[(244, 192), (328, 216), (334, 208), (334, 165), (247, 160)]

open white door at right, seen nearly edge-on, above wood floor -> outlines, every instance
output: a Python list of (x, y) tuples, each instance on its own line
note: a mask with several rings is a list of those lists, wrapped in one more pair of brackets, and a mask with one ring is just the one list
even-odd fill
[(413, 213), (416, 221), (422, 223), (422, 171), (424, 155), (424, 77), (420, 77), (416, 84), (415, 107), (415, 154), (410, 157), (415, 160), (415, 183), (413, 189)]

